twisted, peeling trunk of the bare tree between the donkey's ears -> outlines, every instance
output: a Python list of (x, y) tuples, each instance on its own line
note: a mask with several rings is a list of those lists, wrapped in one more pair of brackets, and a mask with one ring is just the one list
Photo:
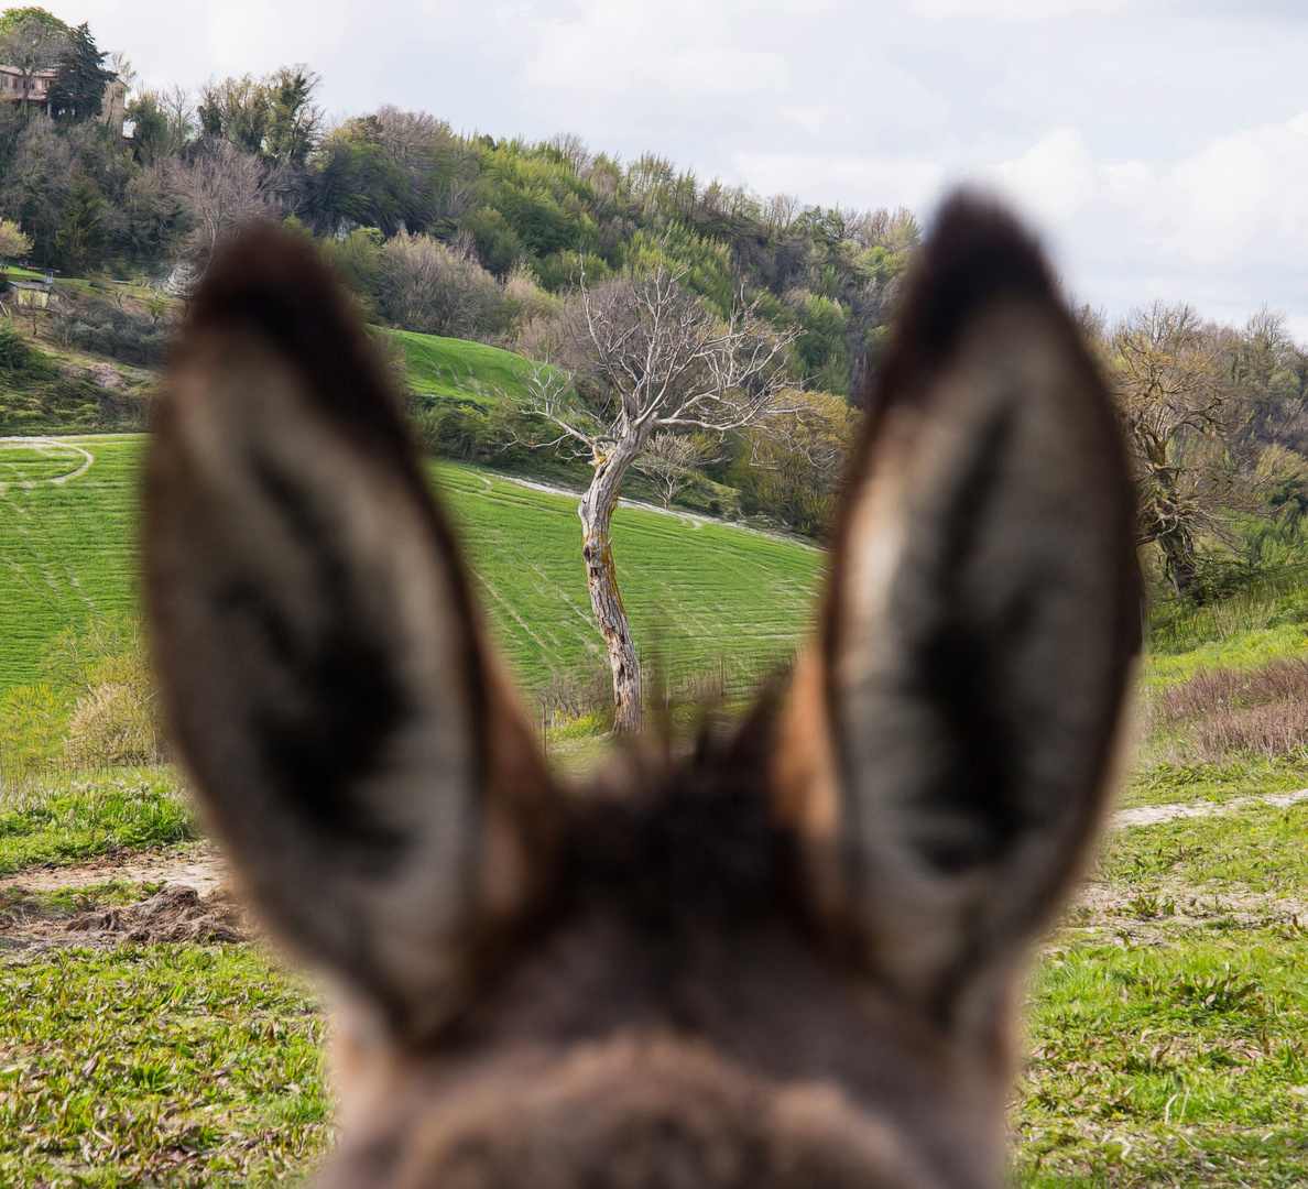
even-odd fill
[(595, 474), (586, 494), (577, 505), (581, 517), (581, 555), (586, 561), (586, 585), (595, 623), (608, 645), (608, 663), (613, 670), (613, 734), (634, 735), (645, 726), (645, 702), (641, 693), (641, 667), (632, 640), (632, 625), (623, 610), (617, 591), (617, 566), (613, 565), (613, 542), (608, 534), (617, 505), (617, 484), (640, 450), (615, 451), (595, 464)]

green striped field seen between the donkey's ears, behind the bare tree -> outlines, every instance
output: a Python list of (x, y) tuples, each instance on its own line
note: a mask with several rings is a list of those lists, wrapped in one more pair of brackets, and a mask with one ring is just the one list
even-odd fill
[[(441, 466), (441, 494), (519, 678), (603, 661), (581, 560), (577, 498)], [(823, 555), (727, 525), (619, 505), (613, 557), (644, 655), (670, 670), (748, 666), (793, 649), (811, 621)]]

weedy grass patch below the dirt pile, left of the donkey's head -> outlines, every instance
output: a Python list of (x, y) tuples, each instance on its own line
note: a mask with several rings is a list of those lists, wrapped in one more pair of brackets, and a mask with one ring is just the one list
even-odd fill
[(317, 995), (250, 946), (0, 963), (0, 1182), (276, 1185), (331, 1138)]

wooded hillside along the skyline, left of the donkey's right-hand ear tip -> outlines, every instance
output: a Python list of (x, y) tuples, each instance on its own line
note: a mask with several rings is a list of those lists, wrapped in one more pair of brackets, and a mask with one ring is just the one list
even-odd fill
[[(102, 63), (92, 31), (77, 33), (81, 60)], [(743, 296), (802, 326), (793, 370), (806, 386), (859, 390), (918, 242), (912, 213), (760, 198), (654, 154), (464, 136), (395, 107), (330, 127), (318, 84), (290, 67), (135, 89), (123, 136), (86, 105), (51, 119), (0, 102), (0, 216), (30, 237), (37, 267), (174, 288), (242, 224), (293, 220), (336, 245), (378, 320), (505, 345), (581, 268), (598, 281), (662, 250), (721, 311)]]

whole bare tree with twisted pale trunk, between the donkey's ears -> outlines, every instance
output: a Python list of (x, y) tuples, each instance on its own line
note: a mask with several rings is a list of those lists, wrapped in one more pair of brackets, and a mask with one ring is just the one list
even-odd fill
[(593, 468), (577, 514), (591, 610), (613, 671), (615, 734), (644, 725), (640, 663), (610, 535), (623, 477), (657, 433), (721, 439), (787, 411), (798, 395), (782, 364), (799, 331), (777, 330), (744, 301), (722, 319), (681, 285), (684, 276), (662, 255), (649, 272), (596, 288), (582, 271), (570, 347), (585, 358), (587, 382), (540, 365), (519, 403), (549, 420), (556, 443), (573, 442)]

